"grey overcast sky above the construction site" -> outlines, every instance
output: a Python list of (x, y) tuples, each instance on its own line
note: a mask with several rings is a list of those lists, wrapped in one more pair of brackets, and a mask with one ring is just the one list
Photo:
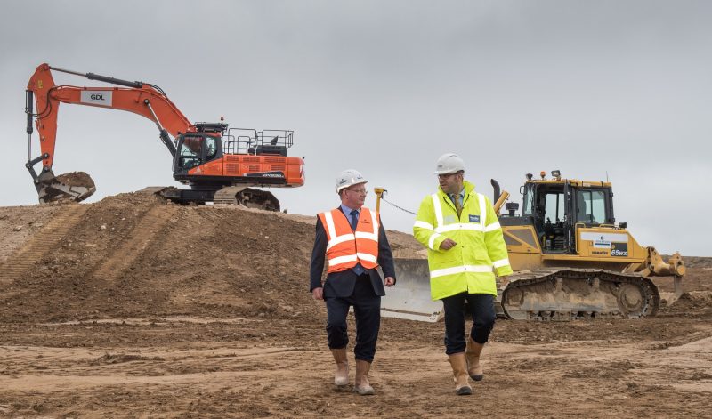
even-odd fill
[[(456, 152), (516, 201), (525, 173), (608, 178), (641, 245), (712, 256), (712, 2), (11, 0), (2, 20), (0, 205), (36, 204), (24, 90), (47, 62), (159, 85), (191, 121), (295, 130), (306, 185), (272, 189), (290, 213), (336, 206), (346, 168), (415, 211)], [(127, 112), (62, 105), (55, 158), (93, 177), (89, 202), (178, 186)], [(382, 207), (388, 229), (413, 217)]]

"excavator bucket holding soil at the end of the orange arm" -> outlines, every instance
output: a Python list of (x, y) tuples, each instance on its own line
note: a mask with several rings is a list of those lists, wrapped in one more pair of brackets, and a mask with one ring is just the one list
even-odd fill
[(40, 204), (68, 200), (81, 202), (91, 197), (96, 187), (85, 172), (64, 173), (54, 176), (52, 171), (40, 173), (35, 182)]

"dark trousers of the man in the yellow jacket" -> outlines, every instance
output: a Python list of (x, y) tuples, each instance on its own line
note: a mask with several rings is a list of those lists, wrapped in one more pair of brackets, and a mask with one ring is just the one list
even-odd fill
[(473, 329), (470, 332), (474, 342), (486, 343), (490, 332), (495, 326), (494, 295), (491, 294), (457, 294), (442, 299), (445, 309), (445, 353), (464, 352), (465, 342), (465, 301), (473, 318)]

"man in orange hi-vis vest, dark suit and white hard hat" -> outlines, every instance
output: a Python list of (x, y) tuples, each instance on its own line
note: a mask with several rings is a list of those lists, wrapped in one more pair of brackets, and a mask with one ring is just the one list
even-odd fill
[[(336, 361), (334, 383), (349, 384), (346, 346), (346, 315), (353, 306), (356, 317), (356, 382), (354, 389), (362, 396), (373, 394), (368, 370), (376, 354), (376, 340), (381, 326), (381, 297), (385, 286), (395, 284), (391, 246), (378, 215), (363, 206), (366, 180), (355, 170), (344, 170), (336, 178), (336, 193), (341, 205), (319, 214), (312, 251), (310, 291), (316, 300), (327, 304), (328, 347)], [(321, 274), (327, 263), (327, 279)], [(385, 279), (378, 273), (384, 271)]]

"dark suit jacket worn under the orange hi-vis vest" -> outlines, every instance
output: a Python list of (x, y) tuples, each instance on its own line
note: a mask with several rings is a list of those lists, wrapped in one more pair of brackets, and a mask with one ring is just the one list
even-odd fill
[[(339, 206), (341, 211), (341, 206)], [(345, 216), (345, 215), (344, 215)], [(348, 217), (347, 217), (348, 218)], [(384, 225), (381, 220), (378, 220), (378, 264), (384, 270), (386, 277), (395, 279), (395, 267), (393, 266), (393, 255), (391, 246), (388, 244), (388, 238), (385, 237)], [(314, 288), (321, 286), (321, 273), (324, 270), (324, 263), (327, 254), (327, 232), (321, 224), (321, 220), (317, 217), (317, 231), (314, 240), (314, 249), (312, 250), (312, 269), (310, 275), (310, 287)], [(384, 296), (384, 280), (381, 278), (378, 270), (366, 270), (371, 278), (371, 286), (376, 295)], [(333, 272), (327, 275), (327, 281), (324, 283), (324, 297), (349, 297), (353, 293), (353, 287), (356, 285), (356, 273), (353, 270), (342, 270)]]

